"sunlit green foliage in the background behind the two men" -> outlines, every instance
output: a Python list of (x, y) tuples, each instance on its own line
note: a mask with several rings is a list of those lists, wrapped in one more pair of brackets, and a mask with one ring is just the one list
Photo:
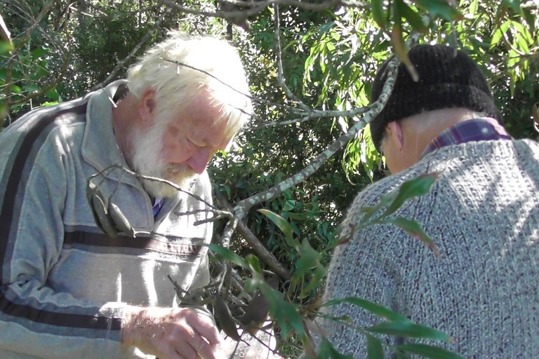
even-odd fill
[[(211, 0), (0, 0), (0, 15), (13, 41), (11, 47), (6, 42), (0, 46), (4, 127), (29, 109), (121, 79), (137, 55), (168, 29), (179, 28), (231, 40), (244, 59), (255, 97), (252, 121), (237, 146), (209, 168), (220, 201), (237, 203), (305, 168), (359, 121), (361, 114), (345, 116), (344, 111), (368, 104), (375, 69), (392, 53), (405, 59), (399, 49), (410, 41), (466, 50), (487, 74), (510, 134), (538, 135), (532, 110), (539, 101), (535, 0), (271, 4), (225, 8)], [(241, 10), (244, 15), (238, 15)], [(299, 111), (305, 108), (342, 114), (310, 118)], [(382, 177), (381, 165), (363, 130), (314, 175), (255, 205), (244, 223), (293, 271), (298, 252), (279, 226), (256, 210), (281, 215), (294, 238), (307, 240), (323, 254), (319, 260), (324, 266), (329, 260), (325, 248), (334, 244), (347, 206), (354, 194)], [(232, 238), (232, 248), (243, 257), (252, 252), (245, 236), (237, 232)], [(317, 297), (317, 288), (302, 292), (289, 280), (281, 280), (281, 290), (298, 303)]]

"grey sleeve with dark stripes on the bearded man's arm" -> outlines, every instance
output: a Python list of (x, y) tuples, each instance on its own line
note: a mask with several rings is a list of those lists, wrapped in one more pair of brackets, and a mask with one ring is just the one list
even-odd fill
[(0, 357), (117, 358), (124, 304), (48, 283), (62, 253), (69, 148), (60, 136), (31, 134), (0, 142)]

